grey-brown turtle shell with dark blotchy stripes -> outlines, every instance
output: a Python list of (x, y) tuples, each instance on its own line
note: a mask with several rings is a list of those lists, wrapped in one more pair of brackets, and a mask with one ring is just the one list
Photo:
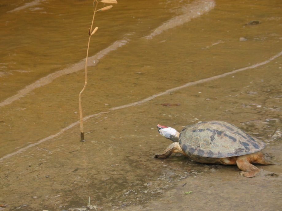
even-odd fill
[(188, 155), (232, 157), (262, 150), (265, 143), (233, 124), (222, 121), (188, 125), (179, 135), (181, 149)]

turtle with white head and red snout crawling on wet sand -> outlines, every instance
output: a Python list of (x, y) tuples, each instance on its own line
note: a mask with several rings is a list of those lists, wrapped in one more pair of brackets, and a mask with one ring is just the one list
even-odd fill
[(280, 165), (273, 156), (261, 152), (265, 143), (233, 124), (223, 121), (198, 122), (185, 126), (179, 133), (171, 127), (157, 125), (158, 132), (174, 143), (157, 158), (167, 158), (172, 153), (183, 153), (186, 157), (205, 164), (237, 165), (241, 176), (276, 175), (257, 168), (252, 163)]

